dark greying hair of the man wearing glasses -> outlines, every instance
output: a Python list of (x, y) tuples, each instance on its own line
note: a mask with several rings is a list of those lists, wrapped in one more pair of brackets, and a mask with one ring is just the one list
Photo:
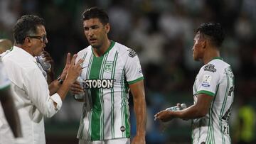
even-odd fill
[(39, 25), (46, 25), (43, 18), (34, 15), (24, 15), (18, 19), (14, 26), (14, 40), (15, 43), (23, 44), (24, 39), (28, 35), (35, 35), (37, 33), (36, 27)]

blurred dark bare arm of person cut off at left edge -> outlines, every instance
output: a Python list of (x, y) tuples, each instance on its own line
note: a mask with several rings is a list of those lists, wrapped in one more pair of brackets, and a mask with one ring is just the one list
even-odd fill
[(3, 106), (6, 120), (11, 127), (11, 131), (14, 133), (14, 137), (22, 137), (21, 123), (19, 121), (18, 112), (14, 106), (14, 100), (11, 96), (10, 89), (2, 89), (0, 95), (1, 105)]

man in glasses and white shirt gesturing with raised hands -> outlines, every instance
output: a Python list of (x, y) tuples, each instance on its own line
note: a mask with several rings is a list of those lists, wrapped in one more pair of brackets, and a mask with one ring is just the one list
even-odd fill
[(21, 118), (23, 138), (27, 144), (45, 144), (43, 117), (51, 117), (60, 110), (71, 84), (82, 71), (82, 60), (75, 65), (77, 55), (70, 61), (68, 54), (63, 73), (48, 87), (35, 58), (48, 43), (43, 18), (25, 15), (18, 19), (14, 40), (14, 48), (2, 60)]

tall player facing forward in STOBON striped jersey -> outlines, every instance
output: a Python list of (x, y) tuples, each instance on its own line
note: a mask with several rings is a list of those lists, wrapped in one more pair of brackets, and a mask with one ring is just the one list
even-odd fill
[[(137, 118), (137, 133), (132, 143), (144, 144), (146, 101), (144, 77), (137, 53), (108, 38), (110, 23), (105, 11), (93, 7), (82, 16), (84, 33), (90, 46), (78, 52), (78, 58), (84, 58), (81, 77), (90, 99), (85, 100), (82, 109), (79, 143), (130, 143), (130, 89)], [(75, 92), (79, 88), (77, 85), (71, 89)]]

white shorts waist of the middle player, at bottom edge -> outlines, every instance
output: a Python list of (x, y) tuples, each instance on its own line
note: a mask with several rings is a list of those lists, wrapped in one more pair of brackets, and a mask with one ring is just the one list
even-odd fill
[(129, 138), (118, 138), (113, 140), (97, 140), (97, 141), (79, 139), (79, 144), (129, 144), (129, 143), (130, 143)]

